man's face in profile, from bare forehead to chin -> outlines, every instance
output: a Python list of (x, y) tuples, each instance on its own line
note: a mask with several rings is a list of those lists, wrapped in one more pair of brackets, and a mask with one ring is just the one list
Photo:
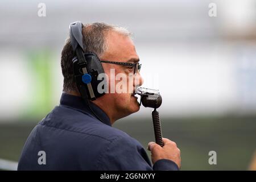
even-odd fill
[[(129, 37), (123, 36), (115, 31), (110, 31), (106, 37), (106, 43), (108, 44), (108, 49), (106, 50), (106, 53), (100, 57), (101, 60), (123, 63), (137, 63), (139, 61), (134, 43)], [(139, 73), (136, 75), (131, 74), (133, 73), (134, 69), (131, 67), (125, 67), (123, 65), (102, 63), (102, 66), (106, 75), (109, 77), (109, 93), (105, 94), (104, 97), (105, 101), (108, 102), (109, 105), (112, 105), (110, 108), (118, 112), (117, 114), (119, 114), (119, 118), (138, 111), (139, 103), (137, 101), (137, 97), (131, 93), (131, 90), (134, 91), (135, 86), (142, 85), (143, 79), (141, 75)], [(112, 76), (110, 76), (111, 70)], [(117, 83), (120, 82), (120, 80), (115, 80), (113, 77), (113, 70), (115, 76), (118, 75), (118, 73), (126, 75), (127, 85), (123, 85), (126, 86), (126, 88), (123, 89), (127, 90), (126, 93), (116, 93), (117, 90), (115, 90), (115, 93), (110, 93), (110, 91), (113, 90), (113, 88), (110, 88), (110, 86), (117, 85)], [(130, 92), (128, 90), (129, 84)]]

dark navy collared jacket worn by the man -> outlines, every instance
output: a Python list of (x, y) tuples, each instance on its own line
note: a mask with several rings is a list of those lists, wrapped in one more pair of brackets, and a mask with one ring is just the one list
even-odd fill
[[(178, 170), (167, 159), (152, 167), (141, 143), (112, 127), (100, 107), (91, 106), (103, 122), (81, 97), (63, 93), (60, 105), (29, 135), (18, 170)], [(46, 164), (38, 162), (39, 151), (45, 152)]]

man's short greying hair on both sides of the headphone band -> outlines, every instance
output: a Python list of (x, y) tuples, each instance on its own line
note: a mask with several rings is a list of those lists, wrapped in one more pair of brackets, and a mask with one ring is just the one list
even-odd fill
[[(104, 55), (108, 44), (106, 43), (106, 35), (109, 31), (115, 31), (123, 36), (129, 36), (131, 33), (124, 27), (114, 26), (107, 23), (89, 23), (83, 24), (82, 36), (85, 52), (96, 53), (98, 57)], [(65, 41), (63, 50), (61, 51), (61, 69), (64, 77), (63, 90), (66, 92), (77, 90), (75, 80), (73, 78), (72, 59), (75, 57), (70, 38)]]

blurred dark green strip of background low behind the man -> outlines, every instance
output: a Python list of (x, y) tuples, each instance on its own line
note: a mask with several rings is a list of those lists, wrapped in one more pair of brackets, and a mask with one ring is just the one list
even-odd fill
[[(150, 114), (150, 113), (148, 113)], [(181, 150), (182, 170), (247, 170), (256, 150), (256, 116), (223, 118), (162, 118), (163, 137)], [(0, 125), (1, 158), (18, 161), (35, 122)], [(113, 127), (125, 131), (147, 148), (154, 141), (150, 118), (120, 119)], [(209, 151), (217, 152), (217, 165), (209, 165)], [(150, 157), (150, 153), (148, 152)]]

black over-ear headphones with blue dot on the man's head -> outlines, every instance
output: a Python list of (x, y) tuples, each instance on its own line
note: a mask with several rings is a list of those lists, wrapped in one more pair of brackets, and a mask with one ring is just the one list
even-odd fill
[(88, 104), (89, 109), (101, 122), (101, 118), (94, 113), (90, 107), (90, 101), (96, 100), (96, 98), (103, 96), (105, 93), (98, 92), (98, 84), (102, 84), (102, 89), (106, 85), (104, 77), (98, 78), (98, 75), (104, 73), (100, 59), (93, 52), (85, 52), (84, 44), (82, 43), (82, 23), (80, 21), (73, 22), (69, 25), (69, 36), (71, 40), (71, 46), (75, 52), (73, 57), (73, 72), (77, 89), (79, 90), (81, 97)]

